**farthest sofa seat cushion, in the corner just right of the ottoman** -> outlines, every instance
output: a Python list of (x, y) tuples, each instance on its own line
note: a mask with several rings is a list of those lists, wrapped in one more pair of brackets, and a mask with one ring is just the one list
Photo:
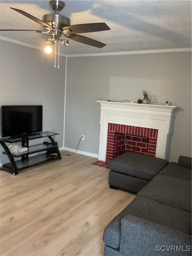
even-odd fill
[(174, 177), (182, 180), (191, 181), (191, 169), (185, 168), (174, 162), (171, 162), (168, 165), (166, 165), (163, 168), (163, 170), (159, 172), (159, 174), (163, 174), (166, 176), (170, 176), (170, 177)]

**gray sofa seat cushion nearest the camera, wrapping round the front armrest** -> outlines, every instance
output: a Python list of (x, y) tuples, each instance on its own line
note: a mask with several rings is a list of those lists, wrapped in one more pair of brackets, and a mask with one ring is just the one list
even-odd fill
[(105, 228), (103, 241), (107, 245), (113, 248), (119, 247), (121, 219), (127, 214), (132, 214), (143, 219), (160, 223), (166, 227), (191, 234), (190, 212), (138, 195)]

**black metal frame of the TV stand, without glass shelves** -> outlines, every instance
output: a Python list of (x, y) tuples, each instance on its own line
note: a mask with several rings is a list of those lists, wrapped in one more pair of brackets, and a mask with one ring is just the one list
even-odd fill
[[(54, 141), (54, 138), (52, 138), (52, 136), (47, 136), (47, 137), (50, 139), (52, 145), (55, 147), (55, 153), (57, 154), (57, 157), (55, 157), (55, 158), (53, 158), (53, 159), (49, 159), (49, 160), (44, 161), (44, 162), (48, 162), (48, 161), (54, 160), (54, 159), (61, 160), (61, 154), (60, 154), (60, 152), (59, 152), (59, 149), (58, 149), (58, 147), (57, 147), (56, 142)], [(34, 139), (36, 139), (36, 138), (34, 138)], [(38, 138), (37, 138), (37, 139), (38, 139)], [(28, 150), (29, 150), (29, 137), (23, 137), (22, 140), (21, 140), (21, 143), (22, 143), (22, 147), (27, 147)], [(10, 164), (11, 164), (11, 167), (10, 167), (10, 168), (7, 167), (7, 166), (5, 166), (6, 164), (3, 164), (3, 166), (0, 167), (0, 170), (9, 171), (9, 172), (11, 172), (13, 175), (17, 175), (19, 172), (18, 172), (18, 168), (17, 168), (17, 165), (16, 165), (16, 161), (14, 160), (14, 156), (13, 156), (12, 153), (10, 152), (10, 150), (9, 150), (9, 148), (7, 147), (6, 143), (5, 143), (3, 140), (1, 140), (1, 139), (0, 139), (0, 144), (1, 144), (1, 146), (3, 147), (3, 149), (5, 150), (5, 153), (6, 153), (6, 155), (8, 156), (9, 161), (10, 161)], [(42, 151), (45, 151), (45, 150), (42, 150)], [(29, 159), (29, 153), (28, 153), (28, 152), (29, 152), (29, 151), (27, 151), (27, 153), (22, 154), (22, 156), (21, 156), (21, 161), (22, 161), (22, 162), (25, 162), (26, 160)], [(49, 155), (49, 156), (52, 156), (52, 155), (50, 155), (48, 152), (46, 152), (46, 154)], [(41, 163), (42, 163), (42, 162), (37, 162), (37, 163), (33, 164), (32, 166), (36, 166), (36, 165), (41, 164)], [(23, 167), (22, 170), (27, 169), (27, 168), (30, 168), (30, 167), (32, 167), (32, 166)]]

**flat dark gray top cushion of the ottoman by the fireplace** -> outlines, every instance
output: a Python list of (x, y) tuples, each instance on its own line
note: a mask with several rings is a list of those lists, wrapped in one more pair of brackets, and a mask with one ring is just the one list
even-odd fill
[(161, 158), (129, 152), (112, 159), (109, 162), (109, 169), (140, 179), (152, 180), (167, 164), (168, 161)]

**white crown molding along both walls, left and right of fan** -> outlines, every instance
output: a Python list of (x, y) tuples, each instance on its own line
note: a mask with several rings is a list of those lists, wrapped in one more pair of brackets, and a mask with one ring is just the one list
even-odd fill
[[(40, 46), (24, 43), (11, 39), (8, 37), (0, 36), (0, 40), (11, 42), (14, 44), (23, 45), (29, 48), (42, 50)], [(128, 52), (102, 52), (102, 53), (84, 53), (84, 54), (64, 54), (60, 53), (63, 57), (91, 57), (91, 56), (113, 56), (113, 55), (133, 55), (133, 54), (147, 54), (147, 53), (170, 53), (170, 52), (191, 52), (192, 48), (176, 48), (176, 49), (158, 49), (158, 50), (142, 50), (142, 51), (128, 51)]]

